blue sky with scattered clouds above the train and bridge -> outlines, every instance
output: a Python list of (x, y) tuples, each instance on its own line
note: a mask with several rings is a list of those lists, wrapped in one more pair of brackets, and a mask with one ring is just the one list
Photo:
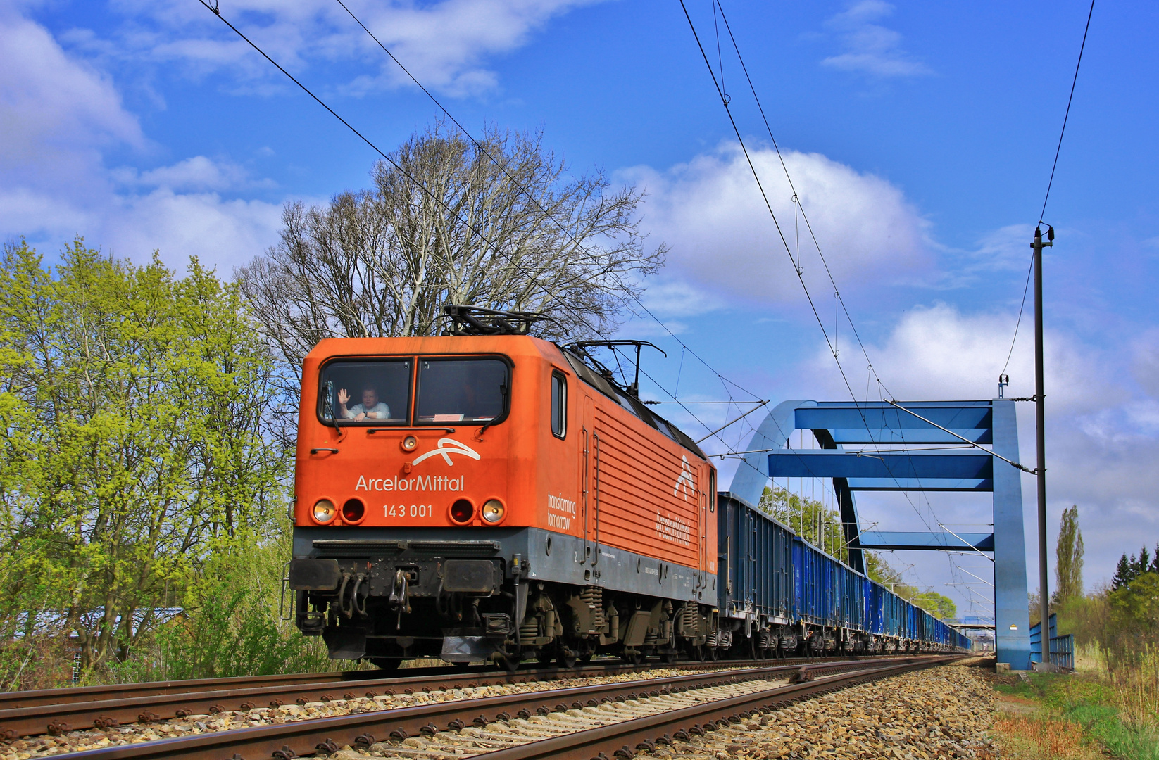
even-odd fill
[[(686, 1), (715, 67), (712, 6)], [(220, 7), (384, 149), (436, 118), (335, 0)], [(690, 355), (681, 365), (659, 326), (629, 321), (624, 335), (668, 351), (646, 364), (662, 386), (673, 390), (679, 377), (681, 399), (727, 400), (720, 373), (774, 402), (848, 396), (678, 0), (350, 7), (469, 129), (542, 129), (574, 171), (602, 168), (647, 190), (643, 227), (672, 250), (646, 302), (712, 367)], [(898, 399), (992, 396), (1087, 3), (723, 7), (885, 387)], [(1058, 231), (1047, 256), (1050, 533), (1078, 504), (1088, 586), (1110, 577), (1123, 550), (1159, 541), (1157, 21), (1154, 3), (1095, 8), (1045, 214)], [(790, 229), (792, 193), (727, 37), (722, 45), (732, 112)], [(365, 187), (374, 159), (197, 0), (0, 0), (0, 235), (50, 256), (82, 234), (119, 256), (158, 249), (180, 266), (197, 255), (228, 275), (277, 242), (282, 204)], [(866, 363), (804, 244), (802, 264), (865, 397)], [(1027, 328), (1008, 370), (1015, 395), (1033, 393)], [(735, 414), (698, 409), (713, 426)], [(683, 410), (670, 416), (697, 433)], [(1020, 424), (1029, 462), (1029, 407)], [(746, 431), (729, 429), (713, 451), (743, 448)], [(722, 482), (728, 474), (726, 461)], [(1025, 489), (1029, 538), (1033, 481)], [(860, 505), (883, 528), (989, 521), (984, 504), (957, 498)], [(938, 589), (970, 579), (957, 565), (989, 572), (978, 557), (892, 561)], [(964, 587), (945, 590), (968, 609)]]

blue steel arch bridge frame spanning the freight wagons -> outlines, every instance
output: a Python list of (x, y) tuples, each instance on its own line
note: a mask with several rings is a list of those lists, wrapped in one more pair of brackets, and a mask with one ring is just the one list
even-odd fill
[[(794, 430), (812, 432), (821, 448), (789, 448)], [(963, 439), (990, 451), (936, 448)], [(910, 451), (914, 444), (921, 448)], [(786, 401), (768, 412), (745, 451), (729, 491), (753, 506), (770, 477), (832, 478), (854, 570), (865, 572), (865, 549), (992, 553), (998, 662), (1029, 670), (1022, 483), (1020, 472), (1000, 459), (1018, 461), (1013, 401)], [(994, 531), (862, 533), (854, 491), (990, 491)]]

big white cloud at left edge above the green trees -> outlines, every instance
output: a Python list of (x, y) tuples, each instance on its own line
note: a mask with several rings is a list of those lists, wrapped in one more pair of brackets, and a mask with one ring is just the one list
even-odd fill
[(108, 170), (103, 152), (146, 148), (111, 81), (65, 53), (46, 29), (0, 9), (0, 235), (45, 253), (85, 235), (137, 261), (160, 249), (228, 271), (277, 241), (280, 206), (221, 192), (270, 187), (240, 166), (194, 156), (145, 171)]

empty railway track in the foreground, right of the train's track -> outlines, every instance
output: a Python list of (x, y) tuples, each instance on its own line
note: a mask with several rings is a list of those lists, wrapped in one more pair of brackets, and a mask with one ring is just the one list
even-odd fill
[[(487, 760), (630, 757), (636, 748), (710, 731), (819, 693), (960, 656), (911, 656), (816, 662), (695, 672), (658, 679), (460, 699), (415, 707), (358, 711), (74, 753), (76, 760), (220, 758), (289, 760), (329, 754), (341, 746), (399, 748), (486, 757)], [(737, 662), (736, 665), (744, 663)], [(720, 667), (722, 664), (713, 664)], [(729, 664), (723, 664), (728, 666)], [(801, 680), (788, 684), (787, 680)], [(683, 733), (681, 733), (683, 732)], [(403, 744), (406, 743), (406, 744)], [(442, 748), (440, 748), (442, 747)], [(421, 752), (418, 752), (421, 754)]]

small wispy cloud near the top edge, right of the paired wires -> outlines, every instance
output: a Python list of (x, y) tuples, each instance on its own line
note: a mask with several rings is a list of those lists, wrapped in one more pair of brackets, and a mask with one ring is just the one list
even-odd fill
[(892, 13), (888, 2), (861, 0), (832, 16), (825, 25), (840, 34), (845, 52), (825, 58), (821, 65), (877, 78), (932, 74), (928, 66), (902, 50), (901, 34), (873, 23)]

